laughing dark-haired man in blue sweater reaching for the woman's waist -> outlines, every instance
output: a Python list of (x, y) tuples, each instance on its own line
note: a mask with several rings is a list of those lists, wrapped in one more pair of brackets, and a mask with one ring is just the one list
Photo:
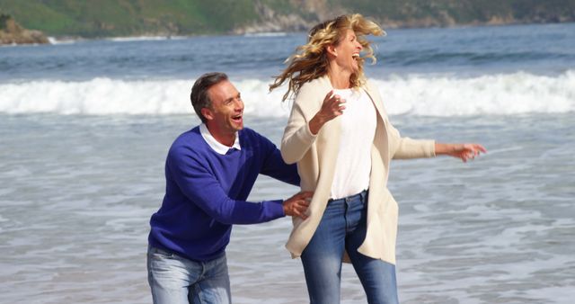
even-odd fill
[(226, 246), (233, 224), (305, 219), (311, 192), (245, 201), (258, 174), (299, 185), (269, 139), (243, 128), (243, 101), (226, 74), (200, 76), (190, 94), (202, 124), (173, 142), (162, 207), (150, 219), (148, 282), (154, 303), (230, 303)]

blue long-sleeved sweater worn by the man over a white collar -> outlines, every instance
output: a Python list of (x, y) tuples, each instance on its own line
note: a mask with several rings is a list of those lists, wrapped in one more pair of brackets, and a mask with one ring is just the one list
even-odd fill
[(255, 224), (285, 216), (283, 201), (245, 201), (258, 174), (299, 185), (296, 165), (254, 130), (239, 131), (241, 150), (217, 154), (199, 127), (173, 142), (165, 162), (162, 207), (150, 219), (148, 242), (194, 261), (222, 255), (232, 224)]

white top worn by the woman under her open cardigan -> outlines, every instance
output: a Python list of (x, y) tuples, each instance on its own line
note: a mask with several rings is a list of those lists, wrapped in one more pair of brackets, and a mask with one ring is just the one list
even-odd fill
[(371, 146), (376, 136), (376, 108), (364, 90), (333, 90), (346, 100), (341, 115), (340, 150), (332, 182), (332, 199), (342, 199), (369, 187)]

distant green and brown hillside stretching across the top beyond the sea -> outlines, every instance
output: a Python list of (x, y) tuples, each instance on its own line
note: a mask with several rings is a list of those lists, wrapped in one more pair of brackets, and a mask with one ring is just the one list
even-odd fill
[(295, 31), (340, 13), (386, 27), (574, 22), (575, 0), (0, 0), (23, 27), (86, 38)]

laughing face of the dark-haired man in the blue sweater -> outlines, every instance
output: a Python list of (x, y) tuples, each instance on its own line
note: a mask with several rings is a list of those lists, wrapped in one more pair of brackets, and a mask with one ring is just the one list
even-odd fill
[(212, 102), (211, 109), (204, 108), (202, 113), (208, 120), (209, 131), (214, 138), (235, 134), (243, 129), (243, 101), (240, 93), (228, 80), (208, 89), (209, 99)]

